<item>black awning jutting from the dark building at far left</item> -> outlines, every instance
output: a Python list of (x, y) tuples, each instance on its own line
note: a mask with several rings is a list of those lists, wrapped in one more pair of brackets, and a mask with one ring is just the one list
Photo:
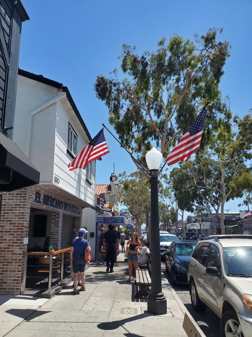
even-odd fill
[(39, 183), (40, 173), (17, 144), (0, 132), (0, 191)]

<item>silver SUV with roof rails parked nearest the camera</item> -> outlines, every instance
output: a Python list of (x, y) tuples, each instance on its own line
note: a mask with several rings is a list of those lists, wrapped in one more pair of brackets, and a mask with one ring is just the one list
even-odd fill
[(221, 318), (221, 337), (252, 336), (252, 235), (211, 235), (198, 242), (187, 278), (192, 306)]

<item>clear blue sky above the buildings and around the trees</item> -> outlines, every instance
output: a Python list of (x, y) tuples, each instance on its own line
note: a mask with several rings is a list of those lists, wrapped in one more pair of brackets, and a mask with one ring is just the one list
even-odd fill
[[(97, 75), (119, 68), (121, 45), (153, 51), (173, 34), (194, 38), (209, 28), (223, 28), (221, 39), (231, 44), (231, 56), (221, 81), (233, 114), (243, 116), (251, 104), (251, 0), (21, 0), (30, 20), (23, 23), (19, 66), (67, 86), (91, 136), (108, 112), (93, 88)], [(96, 183), (109, 182), (113, 172), (136, 170), (129, 154), (107, 132), (110, 153), (97, 162)], [(169, 172), (169, 171), (168, 171)], [(238, 211), (238, 202), (225, 209)], [(241, 207), (244, 209), (244, 207)]]

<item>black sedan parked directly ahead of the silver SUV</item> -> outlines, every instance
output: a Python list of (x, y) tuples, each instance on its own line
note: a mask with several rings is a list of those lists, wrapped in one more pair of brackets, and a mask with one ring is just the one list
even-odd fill
[(171, 243), (165, 253), (165, 270), (170, 273), (172, 283), (188, 283), (188, 263), (198, 241)]

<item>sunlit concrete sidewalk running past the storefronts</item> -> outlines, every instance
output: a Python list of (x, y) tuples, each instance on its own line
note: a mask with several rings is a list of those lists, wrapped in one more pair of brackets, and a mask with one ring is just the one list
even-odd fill
[[(114, 273), (92, 264), (86, 273), (86, 292), (73, 294), (72, 283), (50, 300), (0, 296), (0, 337), (101, 336), (185, 337), (187, 312), (166, 277), (162, 277), (167, 314), (147, 313), (147, 299), (135, 299), (134, 282), (127, 283), (128, 263), (119, 253)], [(134, 280), (134, 279), (133, 279)], [(192, 318), (192, 317), (191, 317)]]

